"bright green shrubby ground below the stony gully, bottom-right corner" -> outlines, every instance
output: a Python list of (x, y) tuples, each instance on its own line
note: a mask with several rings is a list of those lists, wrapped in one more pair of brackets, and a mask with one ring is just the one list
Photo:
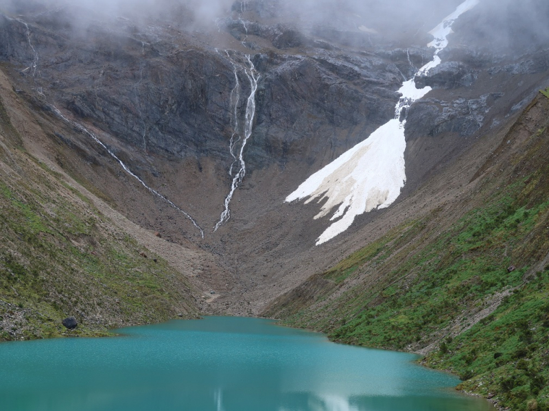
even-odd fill
[[(446, 349), (430, 355), (427, 364), (467, 380), (459, 386), (462, 390), (497, 394), (513, 410), (549, 410), (548, 296), (549, 267), (445, 344)], [(537, 408), (531, 408), (534, 403)]]

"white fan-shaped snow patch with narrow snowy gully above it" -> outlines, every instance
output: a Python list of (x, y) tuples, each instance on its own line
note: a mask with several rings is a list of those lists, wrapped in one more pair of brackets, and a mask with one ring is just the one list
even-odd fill
[[(421, 67), (416, 75), (426, 75), (430, 69), (441, 64), (439, 53), (448, 45), (447, 36), (452, 33), (452, 24), (478, 2), (479, 0), (464, 1), (455, 12), (431, 30), (430, 34), (434, 36), (434, 40), (428, 47), (435, 49), (434, 58)], [(401, 188), (406, 183), (406, 114), (414, 101), (431, 91), (429, 86), (417, 89), (414, 77), (404, 81), (399, 89), (402, 97), (395, 107), (394, 119), (307, 178), (285, 199), (286, 202), (292, 202), (309, 197), (305, 202), (307, 204), (317, 198), (318, 201), (327, 198), (315, 218), (324, 217), (339, 205), (336, 213), (330, 218), (333, 223), (318, 237), (316, 245), (323, 244), (346, 231), (357, 215), (389, 207), (400, 195)]]

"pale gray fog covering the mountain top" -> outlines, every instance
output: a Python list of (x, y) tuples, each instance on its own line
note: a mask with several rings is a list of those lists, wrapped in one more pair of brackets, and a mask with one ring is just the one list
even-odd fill
[[(8, 14), (36, 16), (63, 10), (73, 27), (91, 21), (124, 17), (142, 23), (150, 19), (170, 22), (183, 30), (218, 30), (216, 19), (288, 23), (307, 31), (314, 25), (409, 38), (426, 35), (462, 0), (0, 0)], [(549, 44), (549, 1), (480, 0), (460, 19), (467, 25), (465, 42), (482, 47), (544, 47)], [(469, 22), (474, 22), (471, 24)], [(456, 30), (457, 31), (457, 30)]]

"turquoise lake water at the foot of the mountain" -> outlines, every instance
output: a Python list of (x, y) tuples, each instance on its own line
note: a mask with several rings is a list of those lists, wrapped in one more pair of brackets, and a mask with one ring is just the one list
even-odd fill
[(414, 355), (254, 318), (0, 344), (0, 410), (487, 411)]

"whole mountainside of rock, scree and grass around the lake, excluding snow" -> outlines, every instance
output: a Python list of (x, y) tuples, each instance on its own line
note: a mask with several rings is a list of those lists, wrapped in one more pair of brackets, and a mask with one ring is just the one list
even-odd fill
[[(0, 338), (263, 315), (504, 392), (519, 345), (487, 362), (464, 341), (546, 295), (549, 6), (481, 0), (415, 75), (462, 1), (439, 3), (0, 1)], [(315, 246), (325, 200), (285, 199), (394, 119), (412, 78), (432, 91), (405, 114), (401, 195)], [(530, 351), (501, 401), (543, 403)]]

